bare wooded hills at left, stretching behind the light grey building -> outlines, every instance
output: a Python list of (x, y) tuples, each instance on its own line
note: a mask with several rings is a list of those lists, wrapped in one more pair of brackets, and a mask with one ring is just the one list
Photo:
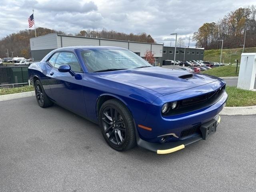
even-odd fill
[[(70, 34), (65, 33), (62, 31), (56, 31), (48, 28), (36, 28), (36, 35), (42, 36), (50, 33), (57, 33), (62, 35), (76, 35), (76, 36), (83, 36), (83, 37), (94, 37), (94, 38), (106, 38), (106, 39), (114, 39), (114, 40), (130, 40), (130, 41), (136, 41), (136, 42), (149, 42), (149, 43), (155, 43), (155, 40), (146, 33), (139, 33), (139, 34), (125, 34), (116, 32), (114, 30), (81, 30), (80, 32), (76, 34)], [(8, 50), (9, 57), (12, 57), (12, 54), (14, 57), (24, 57), (24, 58), (30, 58), (30, 38), (35, 37), (35, 31), (32, 29), (26, 29), (21, 30), (16, 33), (12, 33), (2, 39), (0, 39), (0, 58), (5, 58), (6, 52)], [(13, 52), (13, 53), (11, 53)]]

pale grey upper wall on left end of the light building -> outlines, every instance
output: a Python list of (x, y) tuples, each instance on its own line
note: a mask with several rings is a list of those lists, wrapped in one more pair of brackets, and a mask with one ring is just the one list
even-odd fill
[(30, 50), (56, 49), (57, 34), (48, 34), (30, 39)]

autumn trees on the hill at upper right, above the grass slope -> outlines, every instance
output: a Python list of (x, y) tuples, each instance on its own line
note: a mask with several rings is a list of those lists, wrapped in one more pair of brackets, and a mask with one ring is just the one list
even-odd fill
[(238, 48), (244, 44), (246, 32), (246, 47), (256, 46), (256, 6), (238, 8), (229, 12), (217, 22), (204, 23), (197, 32), (194, 32), (193, 40), (196, 47), (218, 49), (224, 40), (223, 48)]

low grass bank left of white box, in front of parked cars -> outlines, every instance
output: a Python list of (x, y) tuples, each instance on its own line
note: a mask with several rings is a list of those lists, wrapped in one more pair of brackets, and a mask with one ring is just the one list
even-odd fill
[(214, 67), (212, 69), (206, 70), (201, 72), (202, 74), (208, 74), (213, 75), (217, 77), (232, 77), (232, 76), (238, 76), (239, 73), (239, 66), (237, 68), (237, 74), (236, 74), (236, 66), (220, 66), (220, 67)]

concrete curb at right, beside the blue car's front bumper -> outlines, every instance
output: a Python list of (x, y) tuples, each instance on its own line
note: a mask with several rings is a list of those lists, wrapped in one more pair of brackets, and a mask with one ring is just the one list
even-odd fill
[(224, 107), (220, 115), (256, 115), (256, 106)]

